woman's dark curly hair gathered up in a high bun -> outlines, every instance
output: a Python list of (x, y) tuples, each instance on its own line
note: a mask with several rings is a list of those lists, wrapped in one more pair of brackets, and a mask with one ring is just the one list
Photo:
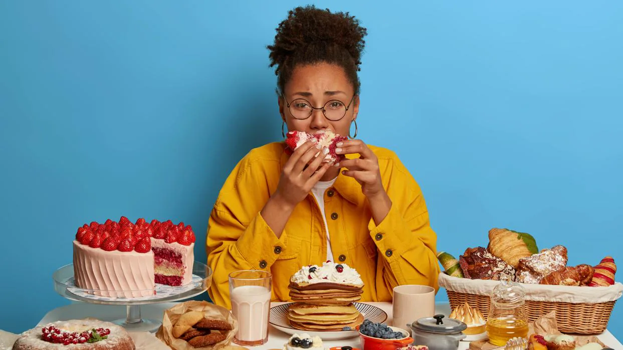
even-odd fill
[(297, 65), (327, 62), (340, 65), (358, 92), (357, 72), (367, 31), (354, 16), (313, 5), (297, 7), (275, 30), (275, 42), (267, 48), (270, 67), (277, 66), (275, 74), (281, 90)]

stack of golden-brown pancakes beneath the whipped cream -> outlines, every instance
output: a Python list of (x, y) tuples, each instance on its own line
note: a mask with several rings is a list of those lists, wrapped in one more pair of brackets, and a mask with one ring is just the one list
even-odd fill
[(295, 303), (288, 307), (288, 320), (293, 328), (305, 331), (340, 331), (355, 329), (363, 322), (363, 315), (353, 303), (361, 300), (363, 283), (296, 282), (290, 280), (290, 298)]

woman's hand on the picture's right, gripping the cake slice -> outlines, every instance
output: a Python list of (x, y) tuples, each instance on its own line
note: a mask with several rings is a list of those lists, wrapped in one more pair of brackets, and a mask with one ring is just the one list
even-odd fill
[(379, 160), (363, 141), (346, 140), (336, 146), (338, 147), (335, 149), (337, 154), (359, 154), (359, 158), (346, 159), (336, 166), (347, 169), (342, 171), (342, 174), (357, 180), (361, 184), (361, 192), (368, 199), (386, 194), (381, 182)]

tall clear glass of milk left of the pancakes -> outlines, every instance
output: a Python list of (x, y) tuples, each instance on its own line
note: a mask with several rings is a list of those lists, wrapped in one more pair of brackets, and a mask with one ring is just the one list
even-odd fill
[(229, 274), (232, 315), (238, 320), (234, 343), (257, 346), (269, 340), (269, 311), (272, 275), (261, 270)]

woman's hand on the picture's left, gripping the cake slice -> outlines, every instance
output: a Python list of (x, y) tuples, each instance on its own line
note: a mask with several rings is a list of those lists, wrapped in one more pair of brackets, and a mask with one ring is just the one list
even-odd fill
[(275, 198), (292, 209), (307, 197), (316, 182), (333, 165), (323, 163), (329, 149), (319, 149), (317, 142), (313, 139), (303, 143), (283, 166)]

